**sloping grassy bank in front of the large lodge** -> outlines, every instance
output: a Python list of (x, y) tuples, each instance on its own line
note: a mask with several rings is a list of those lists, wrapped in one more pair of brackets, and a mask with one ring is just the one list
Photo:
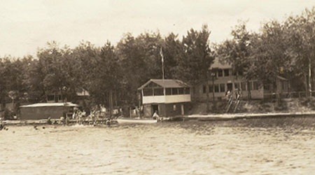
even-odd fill
[[(209, 113), (225, 113), (227, 101), (210, 102)], [(234, 109), (234, 108), (232, 108)], [(233, 110), (230, 110), (233, 111)], [(281, 99), (276, 100), (243, 100), (236, 113), (279, 113), (279, 112), (309, 112), (315, 111), (315, 99)], [(189, 114), (207, 114), (206, 102), (193, 102)]]

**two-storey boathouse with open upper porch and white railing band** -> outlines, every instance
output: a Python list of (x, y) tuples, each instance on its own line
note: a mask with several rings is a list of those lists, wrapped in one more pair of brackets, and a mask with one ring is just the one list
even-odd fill
[(159, 116), (176, 116), (186, 113), (190, 99), (190, 85), (181, 80), (151, 79), (138, 88), (144, 108), (144, 117), (155, 111)]

